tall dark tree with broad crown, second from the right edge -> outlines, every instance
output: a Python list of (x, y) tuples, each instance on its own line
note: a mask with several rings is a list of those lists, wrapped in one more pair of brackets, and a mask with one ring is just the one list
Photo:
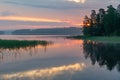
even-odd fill
[(107, 14), (104, 18), (104, 28), (105, 28), (105, 34), (110, 36), (114, 35), (116, 31), (116, 22), (117, 22), (117, 11), (115, 8), (113, 8), (112, 5), (108, 6)]

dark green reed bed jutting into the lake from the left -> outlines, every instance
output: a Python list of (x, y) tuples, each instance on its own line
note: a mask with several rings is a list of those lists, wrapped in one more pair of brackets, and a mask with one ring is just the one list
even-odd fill
[(21, 48), (21, 47), (34, 47), (36, 45), (46, 46), (50, 42), (47, 41), (28, 41), (28, 40), (2, 40), (0, 39), (0, 48)]

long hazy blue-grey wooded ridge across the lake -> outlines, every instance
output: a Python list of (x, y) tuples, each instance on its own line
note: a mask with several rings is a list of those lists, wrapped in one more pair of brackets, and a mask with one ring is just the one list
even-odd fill
[(51, 28), (51, 29), (21, 29), (15, 30), (12, 35), (79, 35), (82, 34), (81, 28)]

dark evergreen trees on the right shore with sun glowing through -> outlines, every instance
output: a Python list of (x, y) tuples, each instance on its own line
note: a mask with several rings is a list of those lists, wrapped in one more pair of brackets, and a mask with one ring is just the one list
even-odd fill
[(120, 36), (120, 4), (112, 5), (107, 10), (100, 8), (99, 12), (91, 10), (90, 18), (85, 16), (83, 33), (86, 36)]

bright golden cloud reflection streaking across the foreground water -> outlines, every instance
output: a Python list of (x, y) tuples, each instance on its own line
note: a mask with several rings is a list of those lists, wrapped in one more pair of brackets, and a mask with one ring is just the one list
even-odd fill
[(24, 71), (24, 72), (18, 72), (18, 73), (3, 74), (0, 76), (0, 79), (2, 80), (17, 80), (17, 79), (49, 80), (54, 78), (55, 76), (59, 76), (65, 73), (72, 75), (77, 71), (82, 71), (85, 67), (86, 65), (84, 63), (75, 63), (71, 65), (63, 65), (59, 67), (51, 67), (46, 69), (36, 69), (36, 70), (30, 70), (30, 71)]

